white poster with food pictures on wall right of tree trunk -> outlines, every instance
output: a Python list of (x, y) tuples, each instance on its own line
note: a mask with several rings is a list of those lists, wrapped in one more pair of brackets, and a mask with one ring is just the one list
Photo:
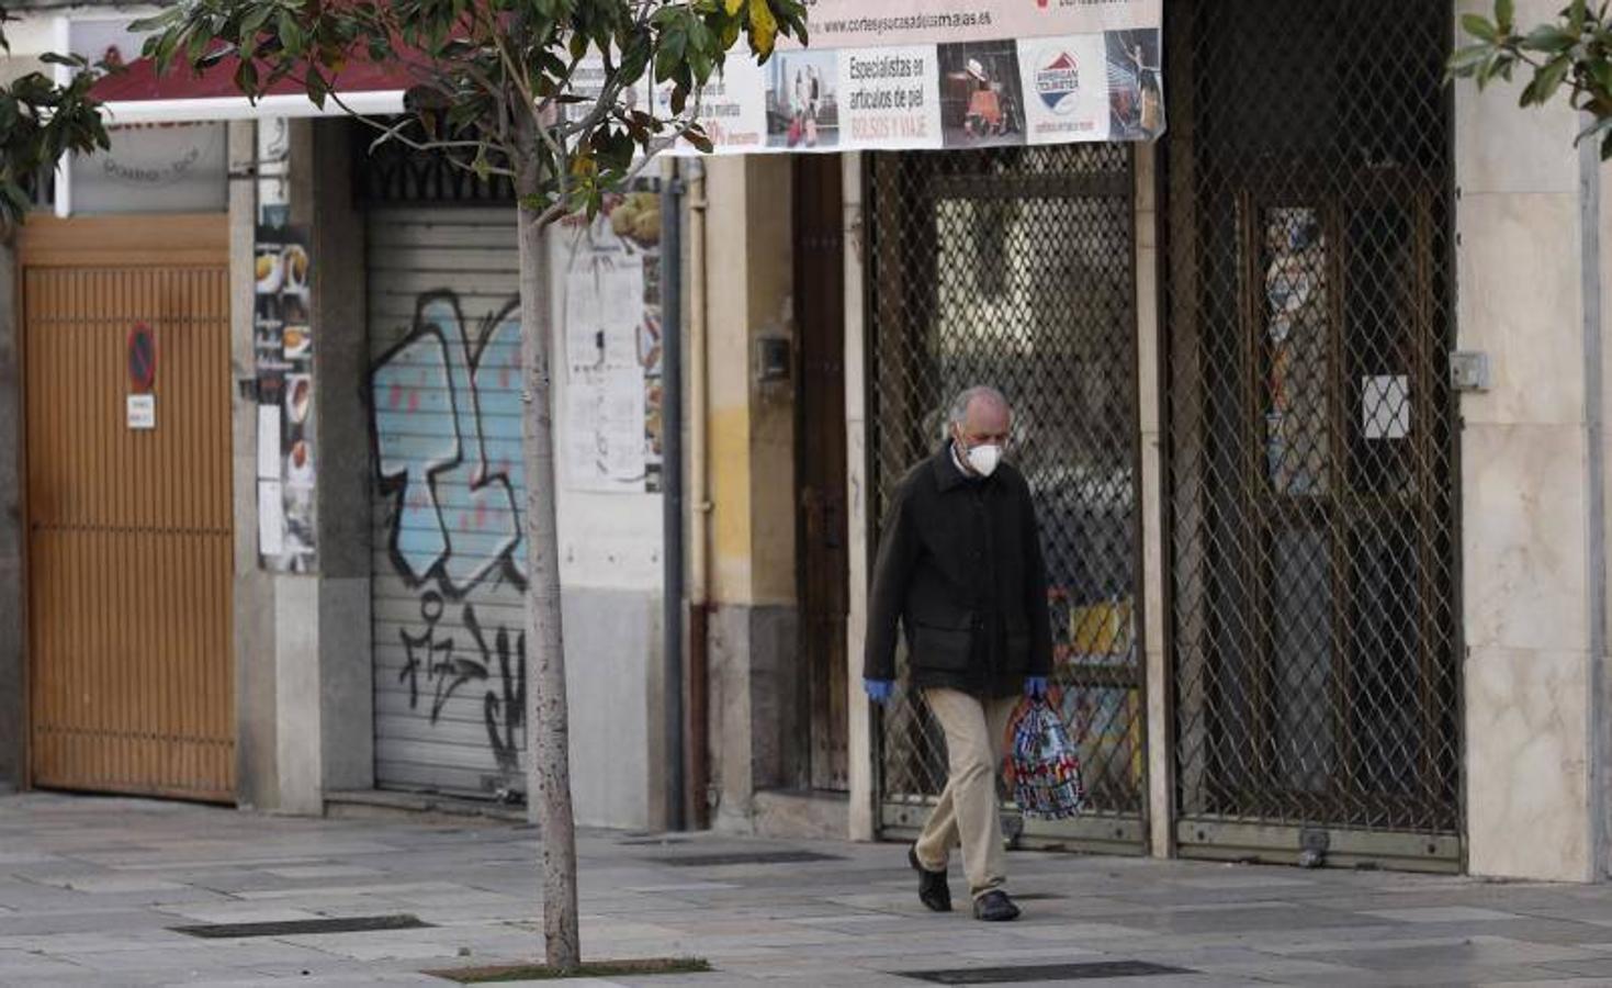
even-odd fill
[(555, 239), (563, 271), (561, 477), (645, 493), (661, 479), (661, 200), (648, 182)]

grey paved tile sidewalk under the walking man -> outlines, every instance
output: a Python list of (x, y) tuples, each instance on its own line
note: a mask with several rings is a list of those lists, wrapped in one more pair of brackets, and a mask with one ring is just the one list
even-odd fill
[[(0, 985), (447, 985), (419, 972), (540, 953), (535, 848), (534, 830), (508, 824), (0, 796)], [(808, 854), (732, 862), (775, 851)], [(1186, 973), (1077, 983), (1612, 985), (1612, 886), (1066, 854), (1009, 862), (1025, 917), (987, 925), (925, 912), (893, 845), (587, 833), (584, 953), (700, 956), (716, 972), (569, 983), (919, 988), (906, 973), (1146, 962)], [(953, 891), (961, 899), (956, 864)], [(432, 925), (218, 940), (172, 930), (384, 914)], [(1124, 969), (1070, 975), (1091, 970)]]

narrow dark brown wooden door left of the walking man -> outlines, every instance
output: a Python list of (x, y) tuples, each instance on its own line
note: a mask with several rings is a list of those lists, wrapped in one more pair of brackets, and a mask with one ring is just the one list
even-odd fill
[(801, 633), (809, 785), (848, 788), (845, 616), (845, 237), (838, 155), (795, 166)]

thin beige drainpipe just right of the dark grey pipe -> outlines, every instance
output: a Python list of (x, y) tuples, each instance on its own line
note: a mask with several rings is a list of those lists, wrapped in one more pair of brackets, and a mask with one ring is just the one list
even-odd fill
[(711, 630), (711, 485), (706, 395), (706, 174), (704, 161), (688, 174), (688, 824), (711, 825), (709, 630)]

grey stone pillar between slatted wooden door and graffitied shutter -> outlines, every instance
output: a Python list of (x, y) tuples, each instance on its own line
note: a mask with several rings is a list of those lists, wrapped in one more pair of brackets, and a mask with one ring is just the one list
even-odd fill
[[(258, 551), (258, 401), (235, 405), (235, 648), (240, 799), (321, 814), (329, 790), (374, 785), (369, 624), (369, 427), (363, 403), (364, 224), (353, 205), (345, 119), (293, 121), (289, 198), (308, 230), (313, 335), (314, 572), (263, 567)], [(232, 131), (232, 174), (258, 163)], [(251, 380), (255, 184), (231, 190), (235, 377)]]

